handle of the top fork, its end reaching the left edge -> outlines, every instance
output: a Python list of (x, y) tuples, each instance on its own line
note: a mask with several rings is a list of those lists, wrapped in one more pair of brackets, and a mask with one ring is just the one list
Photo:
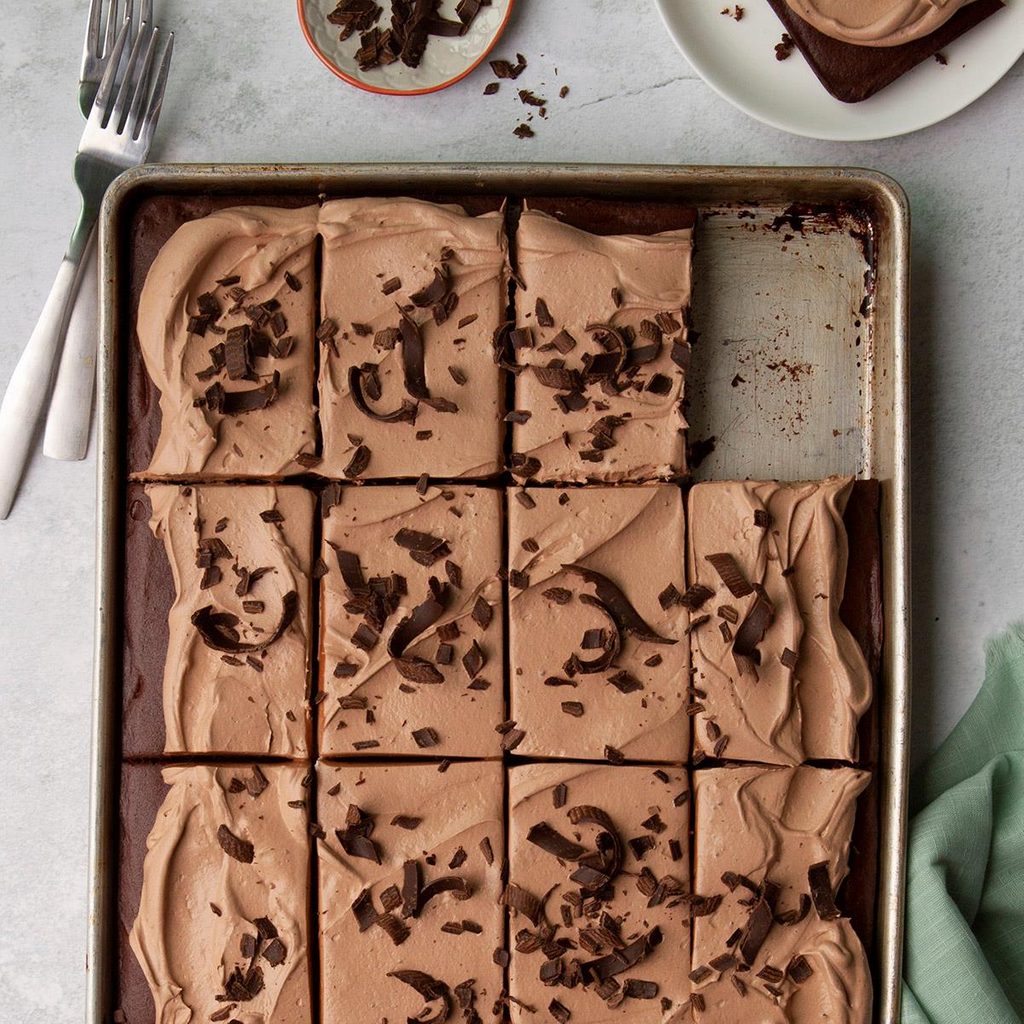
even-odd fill
[(10, 512), (36, 439), (78, 284), (78, 266), (68, 256), (61, 260), (39, 323), (14, 367), (0, 404), (0, 519), (6, 519)]

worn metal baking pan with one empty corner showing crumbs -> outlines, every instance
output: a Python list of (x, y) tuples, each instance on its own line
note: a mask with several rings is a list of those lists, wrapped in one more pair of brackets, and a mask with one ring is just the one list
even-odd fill
[[(101, 346), (88, 1009), (110, 1024), (117, 971), (120, 586), (126, 325), (121, 244), (151, 195), (507, 194), (693, 205), (691, 440), (716, 438), (698, 478), (882, 481), (885, 644), (877, 699), (881, 834), (877, 1019), (899, 1019), (909, 718), (907, 284), (909, 211), (885, 175), (845, 168), (501, 164), (178, 165), (138, 168), (100, 218)], [(795, 204), (799, 206), (795, 207)], [(865, 299), (865, 296), (867, 297)], [(737, 380), (737, 378), (739, 378)]]

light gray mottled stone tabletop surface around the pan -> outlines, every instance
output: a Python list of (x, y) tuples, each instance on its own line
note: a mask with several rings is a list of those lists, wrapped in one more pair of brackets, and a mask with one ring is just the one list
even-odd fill
[[(85, 6), (3, 5), (0, 384), (76, 213)], [(307, 50), (291, 0), (157, 6), (177, 49), (155, 159), (851, 164), (899, 180), (914, 221), (915, 760), (941, 740), (977, 689), (984, 638), (1024, 604), (1020, 63), (934, 128), (816, 142), (732, 110), (644, 0), (518, 0), (501, 45), (529, 58), (517, 84), (570, 86), (537, 137), (519, 140), (523, 109), (511, 89), (482, 96), (484, 72), (412, 99), (338, 82)], [(11, 1024), (83, 1015), (94, 498), (91, 458), (40, 457), (0, 523), (0, 1018)]]

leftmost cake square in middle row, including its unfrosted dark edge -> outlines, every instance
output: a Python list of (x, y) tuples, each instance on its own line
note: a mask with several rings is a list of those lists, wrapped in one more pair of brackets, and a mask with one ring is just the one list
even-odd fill
[(125, 753), (304, 757), (313, 496), (272, 483), (131, 494)]

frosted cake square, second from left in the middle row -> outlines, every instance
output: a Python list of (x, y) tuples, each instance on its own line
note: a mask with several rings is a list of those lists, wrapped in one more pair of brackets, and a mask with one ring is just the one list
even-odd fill
[(331, 488), (321, 582), (326, 757), (499, 757), (501, 492)]

